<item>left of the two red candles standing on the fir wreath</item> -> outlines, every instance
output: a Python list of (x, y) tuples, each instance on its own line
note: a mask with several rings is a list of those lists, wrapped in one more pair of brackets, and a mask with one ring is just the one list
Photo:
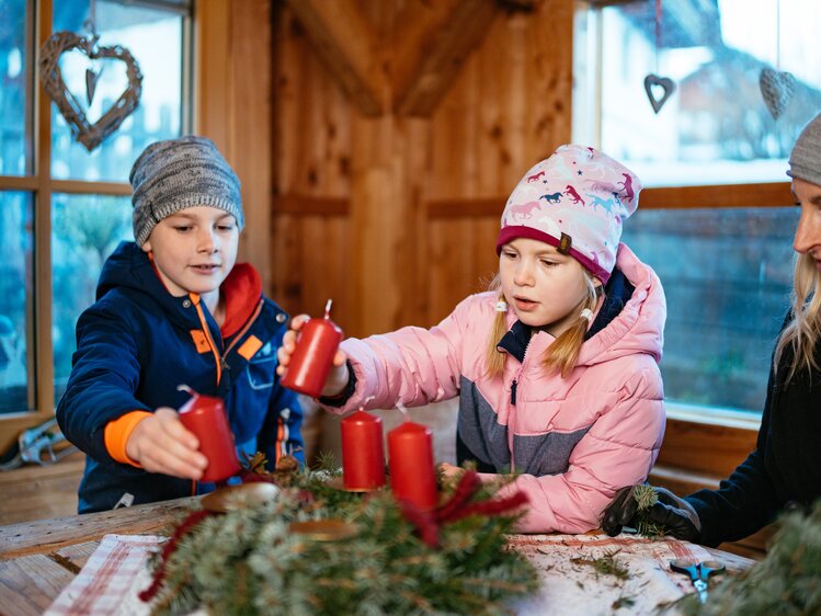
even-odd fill
[(385, 486), (381, 420), (362, 409), (342, 420), (342, 482), (345, 490)]

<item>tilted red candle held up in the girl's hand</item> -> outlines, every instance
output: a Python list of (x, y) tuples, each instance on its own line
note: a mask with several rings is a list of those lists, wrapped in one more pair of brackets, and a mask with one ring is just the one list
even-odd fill
[(311, 398), (322, 395), (324, 381), (333, 365), (333, 355), (342, 342), (342, 330), (328, 317), (330, 309), (329, 299), (323, 319), (308, 319), (303, 324), (288, 369), (282, 378), (283, 387), (307, 393)]

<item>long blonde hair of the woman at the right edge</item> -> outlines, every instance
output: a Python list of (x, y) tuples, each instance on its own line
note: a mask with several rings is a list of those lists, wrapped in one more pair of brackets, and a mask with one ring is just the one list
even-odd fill
[(776, 372), (789, 349), (793, 358), (787, 366), (788, 373), (784, 383), (806, 369), (808, 373), (818, 370), (819, 364), (816, 358), (816, 344), (821, 338), (821, 275), (816, 267), (816, 262), (809, 254), (799, 254), (796, 259), (796, 270), (793, 276), (793, 318), (778, 336), (775, 346), (775, 360), (773, 362)]

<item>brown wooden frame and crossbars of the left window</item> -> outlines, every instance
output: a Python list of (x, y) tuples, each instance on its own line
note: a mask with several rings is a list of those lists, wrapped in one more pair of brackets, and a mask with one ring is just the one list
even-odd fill
[[(156, 7), (176, 12), (183, 19), (182, 36), (182, 133), (191, 132), (194, 111), (194, 8), (186, 2), (168, 0), (140, 0), (140, 5)], [(30, 297), (26, 313), (27, 328), (33, 341), (27, 353), (28, 399), (32, 409), (0, 415), (0, 452), (5, 450), (18, 435), (33, 425), (54, 417), (54, 346), (50, 329), (53, 324), (52, 280), (52, 197), (55, 193), (72, 195), (130, 196), (128, 183), (93, 182), (82, 180), (55, 180), (52, 178), (52, 100), (43, 91), (38, 79), (39, 48), (52, 35), (54, 0), (30, 0), (26, 2), (28, 32), (26, 66), (27, 142), (34, 148), (31, 169), (24, 175), (0, 175), (0, 191), (23, 191), (32, 195), (33, 203), (33, 297)], [(33, 13), (33, 14), (32, 14)], [(36, 82), (36, 87), (35, 87)]]

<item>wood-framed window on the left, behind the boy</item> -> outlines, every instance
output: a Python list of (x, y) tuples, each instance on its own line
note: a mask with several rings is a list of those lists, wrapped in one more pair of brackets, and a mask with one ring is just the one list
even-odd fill
[[(92, 10), (98, 45), (127, 47), (144, 77), (135, 113), (89, 152), (56, 105), (37, 106), (35, 92), (38, 45), (56, 31), (88, 35)], [(0, 413), (47, 415), (65, 390), (77, 318), (94, 300), (102, 264), (133, 239), (130, 166), (148, 144), (189, 127), (191, 2), (0, 0)], [(100, 75), (90, 105), (89, 68)], [(92, 123), (127, 83), (122, 62), (77, 50), (60, 69)]]

